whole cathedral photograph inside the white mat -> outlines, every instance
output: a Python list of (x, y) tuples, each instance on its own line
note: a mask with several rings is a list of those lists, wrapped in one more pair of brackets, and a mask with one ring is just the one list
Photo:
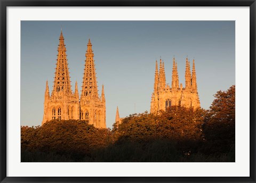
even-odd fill
[(236, 162), (235, 21), (20, 27), (21, 162)]

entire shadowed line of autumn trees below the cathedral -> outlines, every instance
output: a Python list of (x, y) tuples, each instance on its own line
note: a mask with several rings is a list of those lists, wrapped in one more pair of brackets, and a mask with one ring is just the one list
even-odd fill
[(132, 114), (112, 130), (82, 120), (21, 127), (21, 162), (234, 162), (235, 86), (214, 96), (209, 110)]

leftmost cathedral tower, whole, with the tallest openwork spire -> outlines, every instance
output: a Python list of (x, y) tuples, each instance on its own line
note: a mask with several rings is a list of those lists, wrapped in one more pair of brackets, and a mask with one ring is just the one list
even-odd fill
[(70, 77), (68, 72), (68, 60), (66, 54), (66, 45), (62, 31), (60, 33), (60, 43), (58, 47), (57, 63), (55, 68), (55, 77), (53, 90), (50, 95), (48, 81), (44, 94), (44, 116), (42, 124), (46, 121), (59, 119), (79, 119), (79, 94), (77, 82), (75, 93), (71, 90)]

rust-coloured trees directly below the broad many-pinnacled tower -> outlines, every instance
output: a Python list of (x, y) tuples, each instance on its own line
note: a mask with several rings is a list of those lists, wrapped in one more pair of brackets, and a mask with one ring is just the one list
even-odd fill
[(205, 110), (201, 108), (182, 106), (171, 106), (159, 114), (130, 115), (115, 131), (116, 144), (137, 142), (147, 149), (157, 140), (158, 143), (171, 142), (181, 155), (196, 153), (202, 143), (204, 115)]

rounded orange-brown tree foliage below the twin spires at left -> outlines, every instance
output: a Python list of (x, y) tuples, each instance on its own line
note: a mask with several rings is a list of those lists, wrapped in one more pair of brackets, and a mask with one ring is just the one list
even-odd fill
[(42, 127), (21, 127), (21, 148), (30, 152), (88, 155), (93, 149), (108, 145), (109, 129), (94, 128), (87, 121), (52, 120)]

